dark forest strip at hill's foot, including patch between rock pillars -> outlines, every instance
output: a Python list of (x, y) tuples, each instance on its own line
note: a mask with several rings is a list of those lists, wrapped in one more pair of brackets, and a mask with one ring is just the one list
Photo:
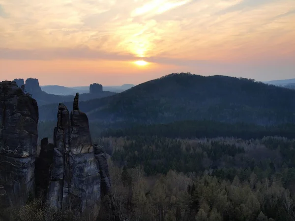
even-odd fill
[[(38, 124), (39, 138), (53, 138), (55, 121), (41, 121)], [(224, 123), (212, 120), (186, 120), (167, 124), (104, 124), (89, 122), (91, 137), (158, 136), (167, 138), (264, 138), (280, 136), (295, 138), (295, 124), (261, 126), (249, 123)]]

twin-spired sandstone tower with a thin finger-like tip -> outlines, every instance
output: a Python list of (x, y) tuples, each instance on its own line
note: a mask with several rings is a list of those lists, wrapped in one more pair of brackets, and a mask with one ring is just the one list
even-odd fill
[(97, 217), (100, 168), (94, 156), (88, 117), (79, 111), (78, 100), (77, 94), (71, 114), (59, 104), (47, 203), (80, 214), (88, 211)]

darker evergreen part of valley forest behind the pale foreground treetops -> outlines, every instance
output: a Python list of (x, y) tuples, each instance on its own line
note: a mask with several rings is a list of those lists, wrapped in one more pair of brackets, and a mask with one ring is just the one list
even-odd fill
[(98, 140), (106, 149), (112, 143), (112, 158), (128, 167), (142, 165), (148, 175), (170, 169), (189, 173), (204, 171), (222, 179), (241, 181), (252, 172), (263, 180), (278, 177), (284, 187), (295, 184), (295, 140), (263, 138), (178, 139), (165, 137), (125, 137)]

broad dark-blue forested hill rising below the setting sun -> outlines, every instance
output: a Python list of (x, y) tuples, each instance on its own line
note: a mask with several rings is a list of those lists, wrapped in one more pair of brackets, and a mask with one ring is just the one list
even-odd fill
[[(295, 121), (294, 90), (249, 79), (189, 73), (171, 74), (79, 106), (89, 120), (107, 124), (207, 119), (269, 125)], [(40, 120), (54, 120), (56, 110), (56, 105), (40, 107)]]

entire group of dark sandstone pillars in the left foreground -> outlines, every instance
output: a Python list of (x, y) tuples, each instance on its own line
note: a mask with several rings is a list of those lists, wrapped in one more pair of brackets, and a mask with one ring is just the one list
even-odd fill
[[(59, 104), (54, 143), (43, 138), (36, 159), (38, 118), (36, 101), (16, 82), (0, 83), (0, 206), (24, 205), (36, 194), (50, 207), (97, 218), (111, 180), (104, 149), (93, 145), (88, 117), (79, 110), (79, 94), (73, 111)], [(108, 203), (114, 207), (112, 199)]]

